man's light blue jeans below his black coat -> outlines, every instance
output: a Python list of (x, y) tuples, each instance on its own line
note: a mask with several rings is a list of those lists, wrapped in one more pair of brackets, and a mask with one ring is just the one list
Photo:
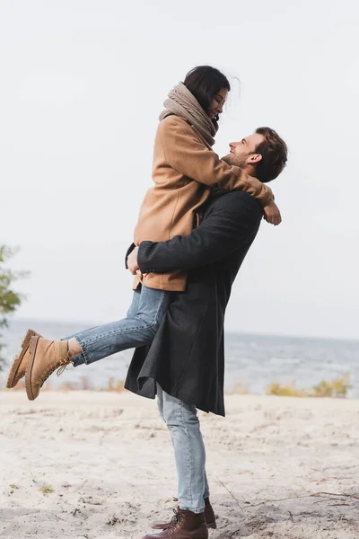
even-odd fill
[(181, 509), (202, 513), (209, 496), (206, 478), (206, 449), (197, 408), (171, 397), (157, 384), (157, 405), (162, 420), (171, 431), (179, 477), (178, 499)]

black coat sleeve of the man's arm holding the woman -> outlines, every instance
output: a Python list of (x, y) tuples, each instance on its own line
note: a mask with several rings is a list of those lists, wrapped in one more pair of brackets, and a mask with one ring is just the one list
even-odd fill
[[(223, 195), (223, 198), (232, 196)], [(191, 270), (220, 261), (236, 251), (257, 233), (260, 223), (260, 207), (254, 200), (249, 204), (247, 197), (236, 196), (232, 207), (216, 206), (188, 236), (175, 236), (167, 242), (140, 243), (137, 262), (141, 272)]]

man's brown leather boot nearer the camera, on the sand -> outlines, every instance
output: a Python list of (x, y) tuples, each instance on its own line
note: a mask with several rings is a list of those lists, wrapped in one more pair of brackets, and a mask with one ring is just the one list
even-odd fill
[(208, 528), (205, 513), (192, 513), (184, 509), (174, 510), (171, 523), (162, 532), (144, 535), (143, 539), (207, 539)]

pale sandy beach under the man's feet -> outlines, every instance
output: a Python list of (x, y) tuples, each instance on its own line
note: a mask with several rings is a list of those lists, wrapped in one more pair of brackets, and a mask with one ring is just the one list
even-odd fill
[[(359, 401), (229, 395), (200, 413), (213, 539), (359, 536)], [(130, 393), (0, 392), (0, 536), (140, 539), (171, 517), (156, 404)]]

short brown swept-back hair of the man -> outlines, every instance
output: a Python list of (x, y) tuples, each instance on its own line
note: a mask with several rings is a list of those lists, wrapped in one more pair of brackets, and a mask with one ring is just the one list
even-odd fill
[(288, 148), (274, 129), (258, 128), (256, 133), (264, 137), (263, 142), (256, 146), (256, 154), (262, 155), (256, 167), (256, 178), (267, 183), (275, 180), (285, 168)]

